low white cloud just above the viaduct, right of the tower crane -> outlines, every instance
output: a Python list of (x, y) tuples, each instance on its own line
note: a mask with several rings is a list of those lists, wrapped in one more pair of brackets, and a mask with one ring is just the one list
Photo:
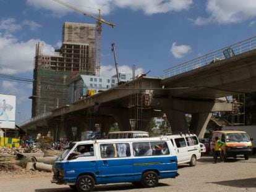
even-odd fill
[[(120, 65), (118, 67), (118, 71), (132, 73), (132, 68), (127, 65)], [(141, 73), (143, 73), (142, 68), (135, 69), (135, 75), (139, 75)], [(112, 77), (113, 75), (116, 75), (116, 68), (113, 65), (101, 65), (100, 75), (103, 77)]]

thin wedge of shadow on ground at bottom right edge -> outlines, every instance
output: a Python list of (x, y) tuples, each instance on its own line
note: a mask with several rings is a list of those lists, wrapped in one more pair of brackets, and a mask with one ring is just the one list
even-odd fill
[(256, 188), (256, 177), (255, 178), (245, 178), (240, 180), (229, 180), (223, 182), (208, 182), (215, 183), (218, 185), (234, 186), (238, 188)]

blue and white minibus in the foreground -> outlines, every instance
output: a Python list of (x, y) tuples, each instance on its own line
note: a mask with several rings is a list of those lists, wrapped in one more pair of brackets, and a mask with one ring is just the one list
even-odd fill
[(123, 182), (154, 187), (159, 179), (178, 175), (176, 152), (167, 138), (78, 141), (62, 152), (53, 172), (53, 183), (78, 191)]

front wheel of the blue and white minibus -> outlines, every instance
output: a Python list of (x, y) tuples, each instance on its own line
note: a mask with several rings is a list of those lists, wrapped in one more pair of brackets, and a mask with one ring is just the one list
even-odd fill
[(77, 179), (75, 186), (79, 192), (92, 191), (95, 186), (95, 180), (90, 175), (82, 175)]

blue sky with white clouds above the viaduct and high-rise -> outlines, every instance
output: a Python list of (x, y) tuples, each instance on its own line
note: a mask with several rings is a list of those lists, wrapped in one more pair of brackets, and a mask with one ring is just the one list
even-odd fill
[[(101, 74), (113, 74), (116, 45), (119, 71), (161, 77), (163, 70), (256, 35), (255, 0), (62, 0), (116, 24), (103, 24)], [(58, 49), (64, 22), (96, 23), (53, 0), (0, 0), (0, 93), (16, 96), (16, 122), (31, 117), (35, 44), (45, 54)]]

